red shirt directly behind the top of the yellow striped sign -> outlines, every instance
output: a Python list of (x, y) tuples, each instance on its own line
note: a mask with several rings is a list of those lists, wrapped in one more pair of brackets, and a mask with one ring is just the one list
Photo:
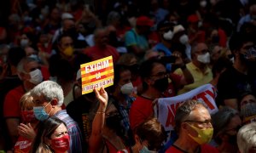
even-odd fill
[(119, 53), (116, 48), (107, 45), (106, 48), (99, 48), (98, 46), (93, 46), (91, 48), (86, 48), (83, 52), (86, 54), (91, 60), (102, 59), (112, 55), (113, 63), (116, 63), (119, 59)]

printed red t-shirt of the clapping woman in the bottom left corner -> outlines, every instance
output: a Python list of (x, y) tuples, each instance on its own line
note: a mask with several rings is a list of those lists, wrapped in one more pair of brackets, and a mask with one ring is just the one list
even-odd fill
[(15, 144), (15, 153), (28, 153), (32, 147), (32, 140), (19, 137)]

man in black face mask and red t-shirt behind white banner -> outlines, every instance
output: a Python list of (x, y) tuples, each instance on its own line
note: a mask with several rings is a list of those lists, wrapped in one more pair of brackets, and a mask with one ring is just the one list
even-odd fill
[[(148, 59), (140, 66), (140, 75), (142, 79), (143, 92), (132, 103), (129, 113), (131, 130), (134, 132), (136, 127), (154, 116), (153, 103), (155, 99), (161, 97), (170, 97), (176, 94), (177, 88), (183, 87), (184, 84), (193, 82), (186, 67), (183, 66), (186, 77), (177, 77), (166, 72), (165, 65), (160, 59)], [(191, 74), (190, 74), (191, 76)]]

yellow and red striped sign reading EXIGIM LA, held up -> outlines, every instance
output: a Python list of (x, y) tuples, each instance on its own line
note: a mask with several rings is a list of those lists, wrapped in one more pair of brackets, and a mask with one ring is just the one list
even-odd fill
[(113, 58), (108, 56), (80, 65), (82, 94), (88, 94), (94, 88), (107, 88), (113, 85)]

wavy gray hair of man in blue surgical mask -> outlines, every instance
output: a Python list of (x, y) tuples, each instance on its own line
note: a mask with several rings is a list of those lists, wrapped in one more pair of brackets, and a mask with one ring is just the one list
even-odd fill
[(38, 84), (35, 88), (31, 90), (32, 97), (43, 96), (45, 100), (51, 101), (53, 99), (58, 99), (58, 106), (63, 104), (64, 94), (61, 86), (52, 81), (44, 81)]

